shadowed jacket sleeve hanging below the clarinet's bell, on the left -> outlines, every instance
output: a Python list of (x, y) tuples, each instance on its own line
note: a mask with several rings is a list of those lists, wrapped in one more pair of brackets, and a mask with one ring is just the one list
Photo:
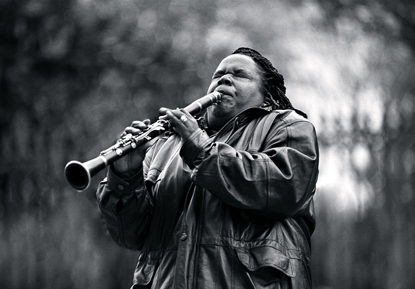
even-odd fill
[(153, 212), (153, 202), (144, 185), (145, 170), (144, 164), (131, 178), (121, 179), (110, 167), (96, 193), (111, 237), (132, 250), (141, 249)]

